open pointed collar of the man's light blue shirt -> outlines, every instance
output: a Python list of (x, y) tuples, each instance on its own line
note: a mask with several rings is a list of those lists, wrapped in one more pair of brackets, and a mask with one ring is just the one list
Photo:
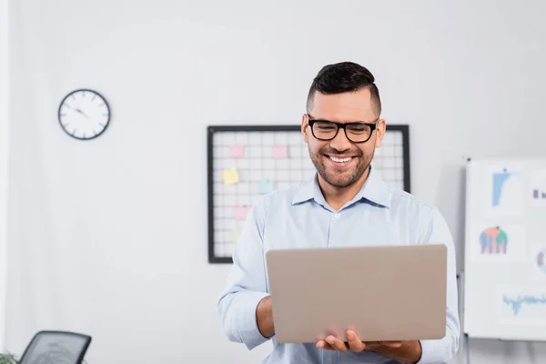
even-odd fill
[[(311, 179), (299, 187), (296, 196), (292, 199), (292, 205), (306, 202), (310, 199), (314, 199), (322, 206), (326, 205), (326, 201), (319, 187), (318, 173), (315, 173)], [(371, 166), (369, 167), (369, 175), (366, 182), (364, 182), (364, 185), (360, 188), (357, 196), (355, 196), (347, 206), (359, 202), (360, 200), (365, 200), (382, 207), (390, 207), (387, 184), (380, 177), (379, 171)]]

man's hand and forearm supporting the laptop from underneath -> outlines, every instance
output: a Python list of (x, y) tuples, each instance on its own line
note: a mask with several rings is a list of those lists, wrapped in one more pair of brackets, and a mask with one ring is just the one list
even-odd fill
[(421, 356), (419, 341), (362, 341), (355, 331), (346, 332), (347, 343), (329, 335), (324, 340), (319, 340), (317, 348), (338, 351), (354, 352), (373, 351), (392, 359), (403, 362), (416, 363)]

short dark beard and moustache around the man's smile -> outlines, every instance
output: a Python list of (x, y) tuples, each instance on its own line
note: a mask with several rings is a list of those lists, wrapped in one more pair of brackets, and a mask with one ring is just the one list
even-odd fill
[[(358, 164), (352, 171), (349, 173), (343, 173), (343, 176), (340, 176), (339, 172), (332, 170), (331, 167), (327, 168), (323, 160), (323, 158), (328, 158), (326, 155), (336, 157), (336, 155), (339, 155), (339, 153), (330, 151), (326, 147), (323, 149), (324, 151), (321, 149), (316, 155), (310, 153), (309, 150), (309, 157), (311, 157), (311, 160), (317, 168), (317, 172), (319, 172), (320, 177), (329, 183), (329, 185), (338, 188), (349, 187), (358, 182), (368, 170), (369, 164), (371, 163), (375, 152), (374, 150), (374, 152), (372, 152), (369, 156), (365, 156), (360, 149), (358, 149), (356, 153), (351, 152), (351, 155), (354, 155), (353, 158), (358, 158)], [(327, 151), (328, 153), (325, 153)]]

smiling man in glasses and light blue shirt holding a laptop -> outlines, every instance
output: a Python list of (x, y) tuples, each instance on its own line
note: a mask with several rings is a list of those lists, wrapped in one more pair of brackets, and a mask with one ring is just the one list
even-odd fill
[[(264, 362), (443, 363), (459, 348), (455, 252), (449, 227), (437, 208), (387, 187), (370, 166), (386, 128), (374, 82), (368, 69), (350, 62), (319, 71), (301, 122), (317, 174), (305, 184), (260, 199), (241, 232), (218, 311), (229, 339), (248, 349), (273, 341), (273, 351)], [(448, 247), (443, 339), (362, 342), (348, 331), (347, 345), (332, 336), (310, 344), (275, 340), (265, 264), (269, 249), (437, 242)], [(400, 297), (405, 299), (411, 297)]]

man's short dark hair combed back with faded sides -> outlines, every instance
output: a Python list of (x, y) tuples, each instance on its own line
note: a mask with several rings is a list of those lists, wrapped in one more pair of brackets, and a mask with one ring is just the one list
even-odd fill
[(368, 68), (353, 62), (341, 62), (324, 66), (313, 79), (313, 83), (309, 88), (307, 109), (309, 111), (311, 108), (316, 92), (333, 95), (369, 88), (371, 102), (377, 106), (380, 115), (381, 100), (378, 86), (374, 82), (375, 77), (369, 72)]

